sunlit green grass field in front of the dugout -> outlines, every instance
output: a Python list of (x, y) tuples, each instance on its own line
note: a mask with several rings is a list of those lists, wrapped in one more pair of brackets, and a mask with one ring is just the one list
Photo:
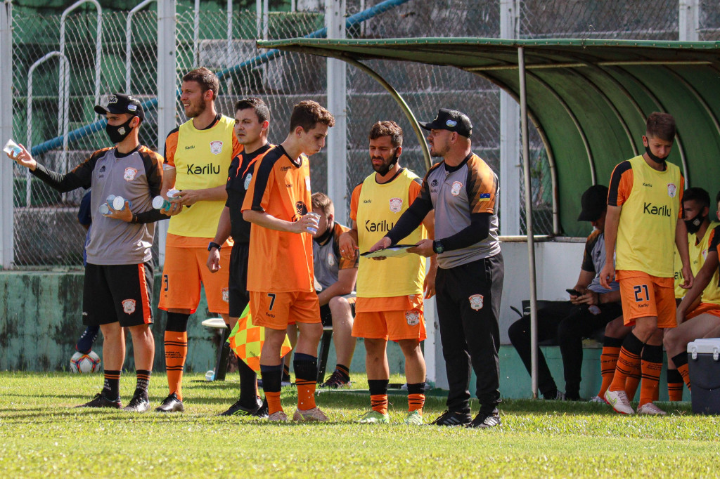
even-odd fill
[[(689, 403), (661, 404), (662, 417), (619, 416), (608, 406), (505, 401), (503, 425), (479, 431), (402, 426), (405, 396), (390, 396), (390, 425), (354, 424), (369, 397), (321, 393), (329, 424), (268, 424), (217, 417), (238, 382), (186, 375), (186, 413), (73, 409), (101, 375), (0, 373), (0, 477), (716, 477), (720, 418), (693, 416)], [(366, 388), (361, 375), (355, 387)], [(124, 374), (123, 401), (135, 376)], [(402, 382), (400, 377), (392, 381)], [(150, 399), (166, 396), (154, 375)], [(292, 414), (294, 388), (283, 389)], [(428, 398), (426, 421), (444, 409)], [(475, 407), (477, 409), (477, 407)]]

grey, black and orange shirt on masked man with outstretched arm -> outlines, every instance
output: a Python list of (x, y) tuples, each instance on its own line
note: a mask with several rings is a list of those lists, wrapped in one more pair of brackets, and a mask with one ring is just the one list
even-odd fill
[[(86, 247), (88, 263), (136, 265), (153, 257), (150, 248), (155, 225), (152, 222), (167, 218), (153, 209), (153, 198), (160, 194), (163, 183), (162, 164), (161, 155), (140, 145), (127, 155), (121, 155), (115, 148), (98, 150), (64, 175), (39, 164), (32, 174), (60, 192), (92, 187), (92, 228)], [(129, 200), (130, 211), (137, 215), (138, 222), (126, 223), (99, 214), (100, 205), (109, 195)]]

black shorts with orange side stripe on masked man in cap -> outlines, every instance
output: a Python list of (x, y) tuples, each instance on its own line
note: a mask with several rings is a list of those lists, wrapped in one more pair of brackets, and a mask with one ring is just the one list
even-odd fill
[(85, 265), (83, 324), (153, 323), (153, 265)]

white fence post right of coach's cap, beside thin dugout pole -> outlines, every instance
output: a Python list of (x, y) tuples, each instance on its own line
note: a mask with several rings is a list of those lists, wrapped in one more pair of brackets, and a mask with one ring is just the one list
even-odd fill
[[(500, 38), (518, 37), (517, 0), (500, 0)], [(520, 234), (520, 106), (500, 91), (500, 234)]]

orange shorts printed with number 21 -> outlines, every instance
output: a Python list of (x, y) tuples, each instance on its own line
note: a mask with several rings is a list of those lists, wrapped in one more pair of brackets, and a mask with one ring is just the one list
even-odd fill
[(659, 278), (642, 271), (621, 270), (616, 273), (620, 283), (623, 322), (632, 326), (638, 318), (657, 316), (657, 327), (674, 328), (675, 280)]

